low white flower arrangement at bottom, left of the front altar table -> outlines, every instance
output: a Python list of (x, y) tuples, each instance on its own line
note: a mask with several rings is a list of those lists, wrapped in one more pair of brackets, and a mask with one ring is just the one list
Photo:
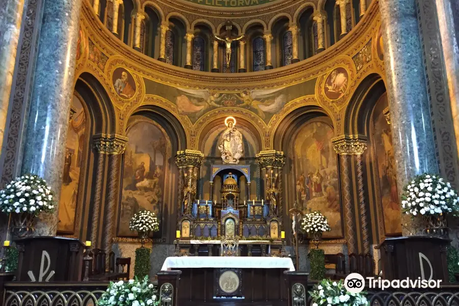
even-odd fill
[(158, 291), (148, 282), (148, 276), (143, 281), (130, 279), (128, 282), (110, 282), (107, 291), (99, 298), (99, 306), (157, 306), (160, 304)]

